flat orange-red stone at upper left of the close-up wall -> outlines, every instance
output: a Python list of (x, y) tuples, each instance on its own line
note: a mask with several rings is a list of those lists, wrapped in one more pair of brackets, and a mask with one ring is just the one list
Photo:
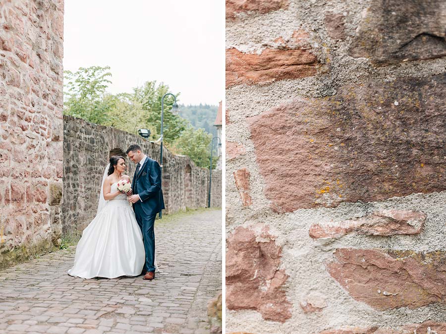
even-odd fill
[(226, 50), (226, 88), (316, 74), (318, 59), (306, 49), (265, 49), (260, 55)]

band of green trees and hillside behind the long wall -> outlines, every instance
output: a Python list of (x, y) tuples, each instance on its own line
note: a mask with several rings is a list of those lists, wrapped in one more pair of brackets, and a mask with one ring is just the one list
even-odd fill
[[(156, 81), (147, 81), (133, 88), (132, 93), (107, 93), (111, 84), (110, 67), (80, 67), (76, 72), (65, 71), (64, 113), (86, 119), (89, 122), (113, 126), (133, 134), (140, 128), (151, 131), (151, 139), (161, 133), (162, 98), (169, 87)], [(177, 93), (178, 98), (179, 93)], [(186, 120), (170, 110), (174, 98), (164, 99), (164, 143), (176, 154), (191, 157), (199, 167), (209, 167), (210, 142), (215, 129), (216, 106), (181, 106)], [(197, 107), (197, 108), (195, 108)], [(193, 122), (191, 124), (191, 122)], [(202, 126), (204, 125), (204, 126)], [(194, 127), (195, 126), (195, 127)], [(211, 130), (211, 131), (210, 131)], [(214, 151), (215, 167), (217, 155)]]

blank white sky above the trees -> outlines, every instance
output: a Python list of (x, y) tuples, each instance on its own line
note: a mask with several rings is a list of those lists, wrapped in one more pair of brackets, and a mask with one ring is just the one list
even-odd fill
[(112, 94), (145, 81), (179, 103), (223, 99), (223, 0), (65, 0), (65, 70), (111, 66)]

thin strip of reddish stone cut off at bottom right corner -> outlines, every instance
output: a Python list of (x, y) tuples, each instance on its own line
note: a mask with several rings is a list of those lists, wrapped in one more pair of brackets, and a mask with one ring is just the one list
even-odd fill
[(446, 334), (446, 323), (427, 320), (421, 324), (409, 324), (399, 328), (368, 327), (327, 330), (320, 334)]

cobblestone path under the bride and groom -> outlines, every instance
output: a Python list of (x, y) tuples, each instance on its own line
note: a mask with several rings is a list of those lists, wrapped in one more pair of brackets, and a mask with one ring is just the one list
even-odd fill
[(0, 333), (210, 333), (207, 303), (222, 289), (222, 213), (157, 221), (160, 273), (73, 278), (75, 247), (0, 271)]

